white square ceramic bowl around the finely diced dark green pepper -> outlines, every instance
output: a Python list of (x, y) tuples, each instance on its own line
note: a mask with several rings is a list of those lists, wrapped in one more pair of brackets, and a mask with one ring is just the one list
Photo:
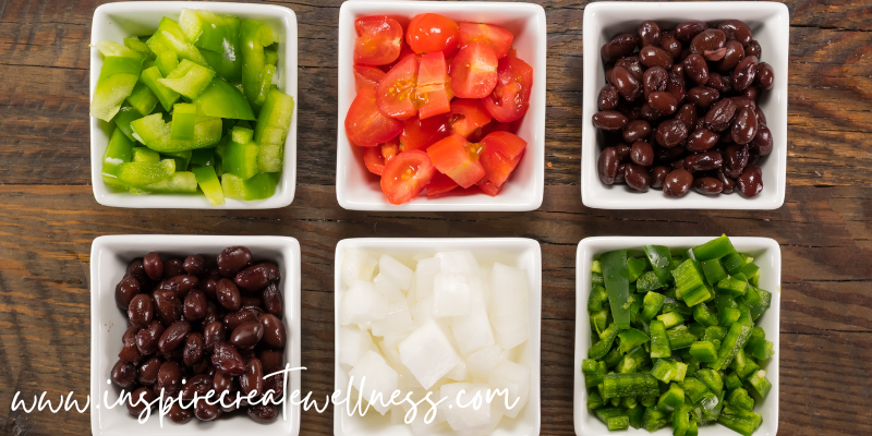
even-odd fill
[[(588, 389), (584, 375), (581, 373), (581, 361), (588, 358), (591, 348), (591, 318), (588, 314), (588, 296), (591, 293), (591, 263), (603, 253), (613, 250), (630, 250), (631, 255), (643, 255), (643, 245), (666, 245), (673, 255), (711, 241), (712, 238), (680, 237), (595, 237), (585, 238), (579, 243), (576, 253), (576, 374), (574, 422), (579, 436), (610, 436), (614, 432), (588, 410)], [(748, 253), (760, 267), (760, 288), (772, 292), (772, 306), (756, 320), (756, 325), (766, 331), (766, 340), (772, 341), (775, 354), (762, 366), (766, 378), (772, 383), (772, 391), (765, 401), (754, 405), (754, 412), (763, 415), (763, 424), (754, 433), (755, 436), (775, 436), (778, 433), (778, 331), (782, 311), (782, 250), (778, 242), (768, 238), (730, 238), (732, 246), (739, 253)], [(655, 435), (668, 436), (671, 427), (655, 433), (645, 429), (629, 428), (622, 434), (630, 436)], [(700, 427), (701, 436), (731, 436), (736, 433), (720, 425)]]

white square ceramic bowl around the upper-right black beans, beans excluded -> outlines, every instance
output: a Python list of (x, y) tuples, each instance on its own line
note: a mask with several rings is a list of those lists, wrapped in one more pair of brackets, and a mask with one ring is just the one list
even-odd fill
[[(754, 39), (763, 47), (761, 61), (775, 70), (775, 85), (762, 93), (758, 106), (775, 140), (770, 156), (760, 162), (763, 192), (753, 198), (738, 193), (706, 196), (691, 190), (681, 198), (668, 198), (662, 190), (640, 193), (626, 185), (606, 185), (600, 181), (596, 161), (603, 148), (603, 135), (591, 118), (597, 112), (600, 88), (606, 83), (600, 48), (615, 35), (635, 35), (639, 23), (656, 21), (671, 28), (688, 20), (716, 24), (742, 20), (751, 27)], [(584, 9), (584, 100), (581, 140), (581, 201), (597, 209), (777, 209), (784, 204), (787, 184), (787, 62), (789, 56), (790, 15), (787, 7), (767, 1), (713, 2), (602, 2)]]

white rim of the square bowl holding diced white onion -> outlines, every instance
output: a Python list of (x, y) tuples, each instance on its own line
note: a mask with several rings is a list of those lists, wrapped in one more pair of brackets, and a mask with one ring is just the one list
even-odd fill
[[(433, 247), (426, 244), (436, 244)], [(422, 249), (425, 247), (426, 249)], [(342, 259), (344, 258), (344, 251), (349, 247), (363, 249), (368, 251), (389, 252), (396, 249), (403, 250), (420, 250), (423, 252), (435, 252), (443, 250), (470, 250), (473, 252), (479, 247), (494, 249), (505, 247), (507, 250), (517, 250), (519, 253), (531, 252), (533, 254), (533, 265), (523, 265), (524, 268), (530, 269), (532, 282), (534, 287), (528, 290), (528, 295), (536, 296), (533, 304), (533, 313), (536, 314), (536, 319), (531, 319), (530, 323), (530, 344), (532, 346), (530, 360), (530, 399), (526, 407), (533, 404), (535, 399), (534, 415), (535, 422), (530, 425), (533, 427), (535, 435), (541, 432), (542, 427), (542, 245), (538, 241), (529, 238), (347, 238), (337, 243), (334, 255), (334, 389), (340, 388), (340, 375), (348, 373), (342, 368), (339, 363), (339, 330), (342, 327), (339, 324), (339, 298), (341, 296), (342, 287)], [(519, 265), (518, 267), (520, 267)], [(347, 288), (347, 286), (344, 286)], [(341, 388), (344, 388), (342, 386)], [(336, 436), (359, 436), (360, 434), (351, 435), (346, 433), (341, 425), (341, 413), (336, 411), (334, 404), (334, 434)], [(411, 432), (411, 431), (410, 431)], [(370, 433), (366, 433), (370, 434)], [(410, 435), (412, 433), (409, 433)], [(511, 434), (507, 434), (509, 436)], [(526, 435), (526, 434), (524, 434)], [(520, 434), (519, 434), (520, 436)]]

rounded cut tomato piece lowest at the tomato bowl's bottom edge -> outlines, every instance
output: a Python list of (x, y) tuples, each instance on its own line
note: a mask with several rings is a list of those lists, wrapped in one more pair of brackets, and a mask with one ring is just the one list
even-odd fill
[(416, 197), (433, 179), (436, 169), (421, 150), (403, 152), (385, 164), (382, 192), (390, 204), (403, 204)]

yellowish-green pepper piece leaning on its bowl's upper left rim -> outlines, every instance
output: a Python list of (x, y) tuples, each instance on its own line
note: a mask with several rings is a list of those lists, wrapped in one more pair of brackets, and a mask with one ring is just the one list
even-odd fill
[[(135, 53), (126, 47), (123, 48)], [(94, 97), (90, 100), (90, 116), (104, 121), (111, 120), (121, 109), (124, 99), (133, 93), (142, 68), (140, 59), (123, 56), (104, 58), (100, 76), (97, 78)]]

